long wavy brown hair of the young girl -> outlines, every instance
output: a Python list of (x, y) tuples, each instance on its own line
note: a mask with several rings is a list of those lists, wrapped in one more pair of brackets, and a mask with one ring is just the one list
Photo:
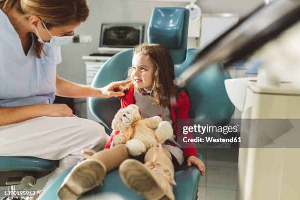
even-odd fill
[[(168, 48), (158, 44), (142, 44), (133, 50), (133, 55), (142, 53), (150, 59), (154, 67), (154, 82), (152, 94), (154, 102), (163, 107), (168, 106), (173, 93), (175, 78), (174, 63)], [(132, 68), (129, 68), (127, 77), (130, 79)], [(129, 89), (133, 83), (126, 85)]]

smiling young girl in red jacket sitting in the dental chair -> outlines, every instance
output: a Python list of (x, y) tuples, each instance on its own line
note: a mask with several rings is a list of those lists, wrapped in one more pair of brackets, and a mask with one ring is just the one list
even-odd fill
[[(126, 85), (127, 91), (121, 98), (121, 108), (136, 104), (140, 108), (142, 119), (160, 116), (163, 121), (169, 121), (173, 125), (175, 138), (176, 119), (189, 119), (190, 102), (187, 94), (181, 92), (177, 96), (176, 104), (170, 103), (175, 74), (169, 50), (157, 44), (143, 44), (136, 47), (132, 66), (128, 70), (128, 78), (132, 82)], [(118, 133), (114, 131), (111, 134), (106, 150), (85, 156), (88, 159), (78, 163), (66, 176), (58, 191), (58, 196), (62, 200), (76, 199), (84, 192), (100, 185), (106, 172), (119, 166), (124, 183), (148, 200), (175, 199), (174, 169), (178, 169), (185, 159), (188, 167), (196, 165), (201, 175), (205, 173), (205, 166), (197, 157), (195, 147), (180, 149), (173, 143), (165, 142), (163, 148), (150, 148), (145, 154), (143, 164), (136, 159), (128, 159), (130, 156), (125, 144), (116, 146), (111, 144), (113, 137)]]

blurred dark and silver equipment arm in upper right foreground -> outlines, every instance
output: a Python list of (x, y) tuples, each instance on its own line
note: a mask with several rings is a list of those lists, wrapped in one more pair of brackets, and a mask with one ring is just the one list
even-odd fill
[[(225, 61), (225, 67), (249, 55), (280, 32), (300, 19), (300, 1), (277, 0), (261, 5), (206, 46), (188, 70), (175, 79), (175, 85), (184, 87), (210, 64)], [(263, 20), (262, 20), (263, 19)]]

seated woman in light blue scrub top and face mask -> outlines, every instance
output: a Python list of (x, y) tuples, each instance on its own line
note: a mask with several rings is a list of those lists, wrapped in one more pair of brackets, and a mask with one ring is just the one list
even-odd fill
[(0, 0), (0, 156), (60, 160), (46, 185), (80, 159), (81, 149), (100, 150), (108, 139), (100, 124), (52, 104), (55, 94), (118, 97), (128, 82), (92, 88), (57, 75), (59, 46), (88, 15), (86, 0)]

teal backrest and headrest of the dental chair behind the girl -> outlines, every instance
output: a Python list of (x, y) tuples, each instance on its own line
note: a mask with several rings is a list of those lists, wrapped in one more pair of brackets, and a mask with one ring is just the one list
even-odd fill
[[(169, 48), (175, 63), (175, 76), (180, 75), (193, 62), (199, 50), (187, 50), (189, 10), (185, 8), (154, 8), (148, 29), (149, 43)], [(103, 87), (112, 81), (124, 80), (131, 66), (133, 50), (122, 51), (110, 58), (99, 70), (92, 83)], [(230, 119), (234, 105), (229, 100), (224, 81), (229, 73), (216, 63), (196, 76), (188, 85), (191, 119)], [(103, 125), (111, 128), (114, 115), (120, 108), (117, 98), (90, 98), (92, 113)]]

